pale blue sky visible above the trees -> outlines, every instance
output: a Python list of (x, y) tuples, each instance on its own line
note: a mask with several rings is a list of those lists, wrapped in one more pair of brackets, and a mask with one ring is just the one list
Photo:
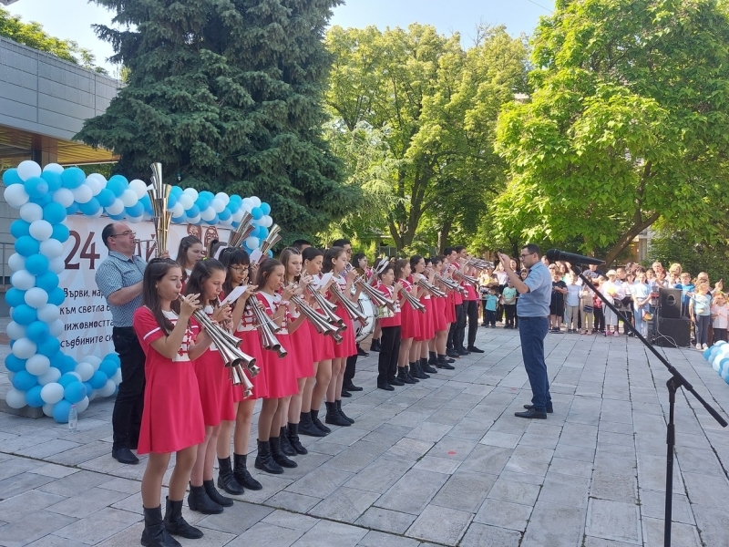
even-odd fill
[[(117, 69), (106, 62), (114, 53), (111, 46), (91, 29), (95, 23), (111, 25), (111, 12), (87, 0), (18, 0), (5, 9), (26, 22), (40, 23), (52, 36), (75, 40), (96, 55), (98, 65), (116, 76)], [(331, 24), (381, 29), (411, 23), (433, 25), (448, 36), (459, 32), (467, 46), (479, 22), (505, 25), (512, 36), (529, 35), (539, 17), (552, 9), (554, 0), (346, 0), (334, 8)]]

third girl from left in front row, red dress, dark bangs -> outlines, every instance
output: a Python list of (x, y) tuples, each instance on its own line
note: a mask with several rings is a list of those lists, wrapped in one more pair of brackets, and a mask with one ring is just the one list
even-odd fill
[[(227, 247), (221, 252), (221, 263), (227, 268), (225, 284), (222, 289), (224, 294), (231, 294), (235, 287), (248, 285), (249, 267), (251, 259), (248, 253), (240, 247)], [(255, 357), (256, 361), (262, 362), (261, 341), (254, 326), (253, 315), (249, 299), (255, 294), (255, 285), (248, 285), (245, 293), (241, 294), (234, 304), (231, 322), (233, 332), (243, 340), (241, 350), (249, 356)], [(248, 313), (246, 314), (246, 310)], [(245, 318), (245, 321), (244, 321)], [(258, 480), (253, 479), (248, 470), (248, 441), (251, 437), (251, 423), (253, 408), (255, 408), (256, 397), (259, 392), (258, 386), (262, 382), (262, 376), (249, 379), (253, 384), (252, 397), (243, 398), (243, 387), (230, 384), (233, 397), (233, 408), (235, 421), (223, 420), (221, 422), (221, 434), (218, 437), (218, 488), (221, 488), (233, 495), (241, 495), (245, 490), (261, 490), (263, 487)], [(231, 431), (235, 423), (233, 434), (233, 466), (231, 468)]]

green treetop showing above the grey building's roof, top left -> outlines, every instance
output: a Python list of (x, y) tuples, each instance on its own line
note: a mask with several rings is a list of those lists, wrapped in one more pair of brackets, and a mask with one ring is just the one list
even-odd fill
[(18, 44), (50, 53), (74, 65), (107, 74), (106, 69), (96, 66), (96, 57), (90, 50), (79, 47), (73, 40), (62, 40), (50, 36), (39, 23), (23, 23), (18, 15), (0, 7), (0, 36), (10, 38)]

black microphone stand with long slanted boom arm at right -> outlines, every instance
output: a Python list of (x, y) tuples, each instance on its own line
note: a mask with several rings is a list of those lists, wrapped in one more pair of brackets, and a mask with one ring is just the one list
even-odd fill
[[(584, 274), (582, 274), (581, 268), (576, 265), (572, 265), (571, 267), (572, 271), (580, 276), (582, 283), (587, 284), (587, 286), (590, 287), (590, 290), (594, 294), (598, 295), (598, 298), (601, 299), (602, 304), (609, 307), (613, 312), (615, 312), (616, 316), (620, 317), (621, 314), (618, 312), (617, 308), (615, 308), (614, 305), (608, 302), (607, 299), (601, 294), (601, 292), (595, 288), (595, 285), (593, 285), (592, 282), (590, 282), (590, 280), (585, 277)], [(671, 365), (671, 363), (666, 361), (666, 359), (660, 353), (658, 353), (655, 347), (635, 329), (630, 321), (626, 321), (625, 325), (628, 327), (628, 329), (631, 330), (632, 334), (635, 335), (635, 337), (643, 343), (643, 346), (646, 346), (648, 349), (651, 350), (654, 356), (658, 357), (658, 360), (661, 361), (663, 366), (665, 366), (668, 369), (668, 372), (671, 373), (671, 377), (666, 382), (666, 387), (668, 388), (669, 411), (668, 423), (666, 424), (666, 511), (665, 516), (663, 517), (663, 546), (671, 547), (671, 523), (673, 520), (673, 449), (676, 444), (675, 426), (673, 423), (673, 410), (676, 404), (676, 391), (678, 391), (679, 387), (683, 387), (703, 405), (703, 408), (706, 408), (706, 411), (711, 414), (712, 418), (714, 418), (720, 426), (725, 428), (729, 424), (726, 423), (726, 420), (722, 418), (721, 415), (716, 410), (714, 410), (714, 408), (709, 403), (704, 401), (703, 398), (698, 393), (696, 393), (696, 390), (689, 383), (689, 381), (685, 377), (683, 377), (683, 375), (678, 370), (676, 370), (676, 368)]]

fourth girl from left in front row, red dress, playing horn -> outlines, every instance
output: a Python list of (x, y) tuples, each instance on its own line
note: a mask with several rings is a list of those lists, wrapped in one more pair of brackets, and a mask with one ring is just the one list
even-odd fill
[[(290, 287), (282, 289), (284, 279), (283, 264), (268, 258), (258, 269), (256, 284), (256, 303), (269, 315), (281, 330), (276, 337), (287, 351), (288, 314), (290, 298), (294, 291)], [(291, 344), (288, 344), (291, 346)], [(282, 398), (298, 391), (293, 362), (288, 356), (279, 357), (275, 351), (263, 349), (262, 368), (265, 368), (266, 395), (263, 396), (261, 414), (258, 416), (258, 455), (255, 467), (267, 473), (281, 474), (283, 467), (298, 467), (293, 459), (288, 459), (281, 451)]]

